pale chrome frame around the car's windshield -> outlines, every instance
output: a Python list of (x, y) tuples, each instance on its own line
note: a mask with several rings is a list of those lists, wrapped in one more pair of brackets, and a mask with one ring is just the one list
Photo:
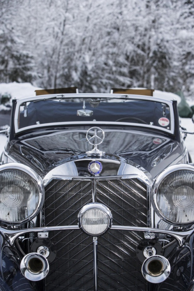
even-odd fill
[(175, 132), (175, 119), (174, 119), (174, 111), (173, 111), (173, 102), (170, 100), (158, 98), (158, 97), (149, 97), (149, 96), (142, 96), (142, 95), (128, 95), (128, 94), (97, 94), (97, 93), (92, 93), (92, 94), (64, 94), (62, 98), (113, 98), (113, 99), (120, 99), (120, 98), (129, 98), (130, 99), (137, 99), (137, 100), (147, 100), (147, 101), (156, 101), (156, 102), (161, 102), (165, 103), (169, 106), (170, 110), (170, 124), (171, 124), (171, 129), (165, 129), (159, 126), (154, 126), (150, 124), (138, 124), (138, 123), (132, 123), (132, 122), (116, 122), (116, 121), (71, 121), (71, 122), (54, 122), (54, 123), (44, 123), (44, 124), (35, 124), (32, 126), (24, 127), (19, 129), (18, 128), (18, 115), (19, 115), (19, 108), (22, 103), (25, 102), (32, 102), (36, 100), (47, 100), (50, 98), (54, 97), (62, 97), (61, 94), (53, 94), (53, 95), (41, 95), (41, 96), (33, 96), (33, 97), (28, 97), (28, 98), (22, 98), (22, 99), (17, 99), (16, 103), (16, 110), (15, 110), (15, 115), (14, 115), (14, 129), (15, 133), (19, 133), (28, 129), (38, 129), (42, 127), (56, 127), (56, 126), (68, 126), (68, 125), (127, 125), (127, 126), (135, 126), (135, 127), (143, 127), (143, 128), (150, 128), (150, 129), (158, 129), (170, 134), (174, 134)]

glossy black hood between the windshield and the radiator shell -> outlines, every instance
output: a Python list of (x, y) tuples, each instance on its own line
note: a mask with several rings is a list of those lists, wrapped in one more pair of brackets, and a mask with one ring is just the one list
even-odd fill
[[(155, 177), (166, 166), (178, 159), (182, 152), (170, 138), (137, 130), (103, 129), (105, 138), (98, 148), (104, 159), (134, 162)], [(42, 131), (40, 135), (20, 137), (8, 144), (10, 157), (31, 166), (44, 177), (62, 163), (87, 158), (92, 146), (86, 141), (87, 129)]]

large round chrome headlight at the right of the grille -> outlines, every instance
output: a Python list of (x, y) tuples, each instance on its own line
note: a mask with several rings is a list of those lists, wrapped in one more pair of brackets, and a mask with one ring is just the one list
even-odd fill
[(171, 224), (194, 222), (194, 167), (179, 164), (168, 167), (154, 184), (154, 204), (160, 217)]

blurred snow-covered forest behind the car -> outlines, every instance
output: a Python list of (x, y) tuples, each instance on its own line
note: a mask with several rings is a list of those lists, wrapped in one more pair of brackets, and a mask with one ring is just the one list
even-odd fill
[(0, 0), (0, 83), (194, 97), (194, 0)]

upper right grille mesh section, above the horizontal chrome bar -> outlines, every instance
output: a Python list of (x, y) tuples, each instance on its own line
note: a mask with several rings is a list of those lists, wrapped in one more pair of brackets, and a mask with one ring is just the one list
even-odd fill
[(146, 189), (137, 179), (98, 180), (97, 202), (110, 208), (113, 225), (147, 226)]

